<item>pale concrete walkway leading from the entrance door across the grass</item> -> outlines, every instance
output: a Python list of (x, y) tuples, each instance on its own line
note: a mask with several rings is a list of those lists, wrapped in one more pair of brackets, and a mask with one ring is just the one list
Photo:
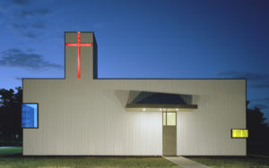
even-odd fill
[(178, 164), (182, 168), (210, 168), (207, 165), (199, 164), (183, 156), (163, 156), (163, 157), (174, 164)]

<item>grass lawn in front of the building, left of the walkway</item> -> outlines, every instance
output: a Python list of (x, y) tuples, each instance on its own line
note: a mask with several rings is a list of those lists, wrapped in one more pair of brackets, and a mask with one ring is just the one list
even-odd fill
[[(9, 149), (9, 150), (7, 150)], [(6, 153), (6, 155), (4, 155)], [(22, 147), (0, 148), (0, 168), (11, 167), (168, 167), (179, 168), (162, 157), (98, 157), (98, 156), (22, 156)], [(8, 155), (7, 155), (8, 154)], [(17, 154), (17, 155), (14, 155)]]

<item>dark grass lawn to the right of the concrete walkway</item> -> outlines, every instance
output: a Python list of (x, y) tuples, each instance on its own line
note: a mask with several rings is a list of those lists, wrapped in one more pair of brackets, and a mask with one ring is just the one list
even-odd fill
[(207, 156), (207, 157), (187, 157), (201, 164), (206, 164), (215, 168), (269, 168), (269, 158), (256, 156)]

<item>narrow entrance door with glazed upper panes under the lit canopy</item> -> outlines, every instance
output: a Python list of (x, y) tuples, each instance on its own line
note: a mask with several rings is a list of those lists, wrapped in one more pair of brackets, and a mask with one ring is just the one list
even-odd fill
[(162, 112), (162, 155), (177, 155), (177, 112)]

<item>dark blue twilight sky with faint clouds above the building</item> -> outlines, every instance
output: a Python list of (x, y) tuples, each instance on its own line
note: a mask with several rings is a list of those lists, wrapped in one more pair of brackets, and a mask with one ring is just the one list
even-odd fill
[[(247, 78), (269, 118), (267, 0), (6, 0), (0, 88), (64, 77), (64, 32), (94, 31), (100, 78)], [(269, 122), (269, 120), (267, 120)]]

